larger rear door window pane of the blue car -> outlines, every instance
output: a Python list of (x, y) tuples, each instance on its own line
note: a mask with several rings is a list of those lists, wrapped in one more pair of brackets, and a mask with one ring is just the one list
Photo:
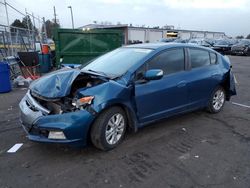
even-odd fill
[(199, 49), (189, 49), (192, 68), (210, 65), (209, 52)]

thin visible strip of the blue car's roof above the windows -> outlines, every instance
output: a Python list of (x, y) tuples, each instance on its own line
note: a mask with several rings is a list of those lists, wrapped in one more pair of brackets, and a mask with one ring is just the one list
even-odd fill
[(198, 46), (190, 43), (176, 43), (176, 42), (157, 42), (157, 43), (142, 43), (142, 44), (133, 44), (124, 46), (125, 48), (146, 48), (146, 49), (167, 49), (167, 48), (173, 48), (173, 47), (195, 47), (200, 49), (206, 49), (211, 50), (210, 48)]

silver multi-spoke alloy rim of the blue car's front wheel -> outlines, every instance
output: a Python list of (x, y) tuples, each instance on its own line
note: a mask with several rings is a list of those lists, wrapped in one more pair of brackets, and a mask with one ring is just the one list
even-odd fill
[(121, 139), (124, 129), (125, 120), (123, 115), (119, 113), (113, 115), (106, 126), (106, 141), (111, 145), (116, 144)]

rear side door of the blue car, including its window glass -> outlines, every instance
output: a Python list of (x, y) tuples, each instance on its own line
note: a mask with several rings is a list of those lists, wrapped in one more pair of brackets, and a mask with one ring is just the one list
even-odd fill
[(220, 83), (221, 71), (213, 52), (189, 48), (190, 76), (188, 77), (189, 108), (205, 106), (212, 91)]

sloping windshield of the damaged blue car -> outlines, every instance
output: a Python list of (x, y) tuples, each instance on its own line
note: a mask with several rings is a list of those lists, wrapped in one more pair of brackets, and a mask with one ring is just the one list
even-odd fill
[(118, 48), (95, 59), (82, 70), (98, 72), (111, 77), (121, 76), (151, 51), (151, 49), (143, 48)]

